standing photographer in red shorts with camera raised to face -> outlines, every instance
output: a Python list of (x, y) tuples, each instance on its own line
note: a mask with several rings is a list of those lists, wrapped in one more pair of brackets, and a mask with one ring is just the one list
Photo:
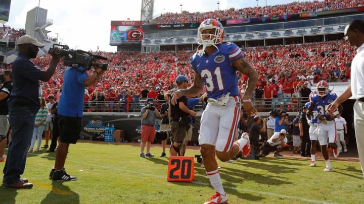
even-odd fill
[[(154, 99), (148, 98), (146, 105), (141, 110), (142, 115), (142, 142), (140, 157), (154, 157), (150, 153), (151, 143), (155, 136), (155, 118), (160, 117), (158, 110), (155, 108)], [(147, 154), (144, 154), (144, 148), (147, 147)]]

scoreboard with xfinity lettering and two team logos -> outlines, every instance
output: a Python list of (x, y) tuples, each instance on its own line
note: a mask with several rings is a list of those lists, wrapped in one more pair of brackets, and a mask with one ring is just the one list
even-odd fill
[(111, 21), (110, 45), (141, 43), (142, 21)]

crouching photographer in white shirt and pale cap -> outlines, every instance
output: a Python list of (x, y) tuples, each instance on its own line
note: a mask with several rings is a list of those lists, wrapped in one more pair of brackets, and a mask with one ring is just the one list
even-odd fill
[(282, 151), (282, 148), (287, 144), (286, 138), (287, 131), (286, 129), (281, 129), (280, 132), (275, 132), (271, 138), (267, 141), (267, 144), (264, 145), (262, 153), (259, 157), (267, 156), (271, 151), (274, 152), (274, 157), (283, 157), (279, 154)]

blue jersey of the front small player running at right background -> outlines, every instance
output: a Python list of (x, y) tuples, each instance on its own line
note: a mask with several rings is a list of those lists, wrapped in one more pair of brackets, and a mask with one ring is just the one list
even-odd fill
[[(334, 102), (334, 100), (337, 97), (338, 96), (335, 93), (328, 93), (324, 98), (321, 98), (321, 96), (318, 95), (317, 93), (311, 94), (310, 102), (314, 105), (313, 112), (317, 112), (328, 119), (330, 117), (330, 115), (326, 111), (326, 108), (328, 107), (329, 104)], [(315, 118), (315, 117), (311, 116), (311, 121), (313, 118)], [(316, 118), (316, 121), (317, 121), (317, 118)]]

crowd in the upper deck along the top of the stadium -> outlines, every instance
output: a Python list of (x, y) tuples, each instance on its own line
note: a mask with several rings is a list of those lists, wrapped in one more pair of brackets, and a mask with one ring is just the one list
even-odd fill
[(325, 0), (325, 1), (297, 1), (291, 4), (266, 7), (248, 7), (242, 9), (215, 10), (205, 13), (181, 12), (165, 13), (151, 21), (151, 24), (177, 24), (201, 22), (208, 18), (224, 20), (249, 19), (256, 17), (283, 16), (297, 13), (328, 11), (363, 6), (363, 0)]

